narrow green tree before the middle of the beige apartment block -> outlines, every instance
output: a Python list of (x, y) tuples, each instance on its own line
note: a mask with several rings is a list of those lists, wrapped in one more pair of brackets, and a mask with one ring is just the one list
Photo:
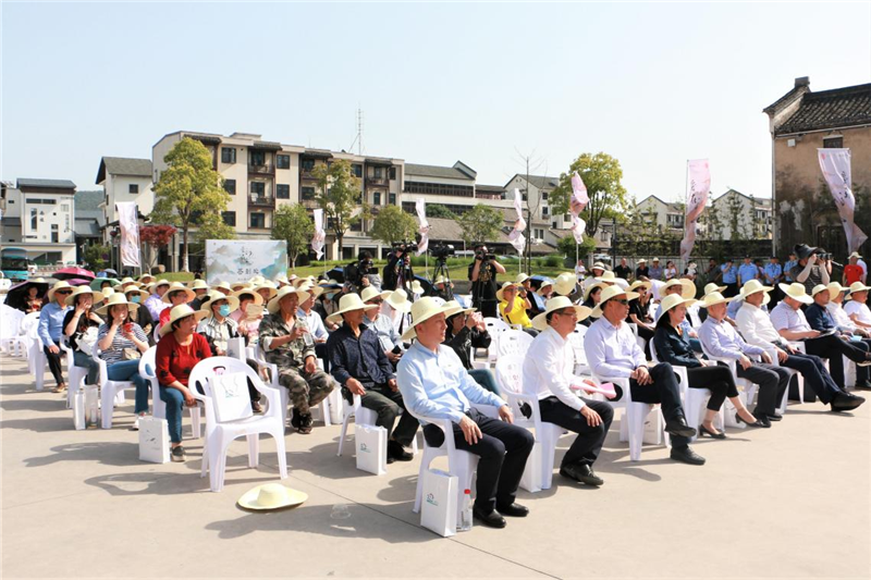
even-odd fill
[(345, 232), (364, 217), (354, 214), (361, 202), (360, 182), (354, 175), (351, 162), (344, 159), (315, 165), (311, 174), (318, 181), (318, 194), (315, 199), (323, 209), (327, 226), (339, 242), (341, 256)]

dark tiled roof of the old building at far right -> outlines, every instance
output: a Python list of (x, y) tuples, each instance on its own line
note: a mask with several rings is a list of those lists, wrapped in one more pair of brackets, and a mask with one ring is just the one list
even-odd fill
[(785, 135), (864, 124), (871, 124), (871, 83), (805, 94), (798, 110), (775, 133)]

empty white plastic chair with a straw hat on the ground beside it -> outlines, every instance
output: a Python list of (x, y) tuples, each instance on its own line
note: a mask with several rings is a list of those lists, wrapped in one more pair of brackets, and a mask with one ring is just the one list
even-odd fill
[[(261, 416), (253, 416), (236, 421), (219, 422), (214, 411), (214, 402), (211, 391), (211, 379), (214, 370), (223, 368), (225, 373), (244, 373), (254, 383), (269, 402), (269, 407)], [(231, 357), (210, 357), (197, 362), (191, 371), (188, 380), (191, 394), (203, 403), (206, 409), (206, 442), (203, 446), (203, 469), (200, 477), (209, 473), (209, 486), (213, 492), (220, 492), (224, 486), (224, 471), (226, 470), (226, 448), (233, 440), (245, 436), (248, 440), (248, 467), (256, 468), (259, 460), (260, 433), (268, 433), (275, 439), (279, 456), (279, 473), (281, 479), (287, 477), (287, 457), (284, 449), (284, 424), (282, 423), (281, 409), (279, 409), (279, 393), (267, 386), (245, 362)], [(196, 385), (203, 387), (200, 394)]]

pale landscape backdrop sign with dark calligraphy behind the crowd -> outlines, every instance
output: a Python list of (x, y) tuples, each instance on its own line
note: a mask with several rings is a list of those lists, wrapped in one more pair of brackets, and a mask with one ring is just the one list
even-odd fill
[(246, 282), (261, 275), (267, 280), (287, 272), (287, 243), (279, 240), (207, 239), (206, 281)]

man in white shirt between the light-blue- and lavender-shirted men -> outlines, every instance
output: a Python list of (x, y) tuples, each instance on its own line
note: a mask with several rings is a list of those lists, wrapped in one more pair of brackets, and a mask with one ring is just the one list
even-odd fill
[(584, 382), (575, 377), (575, 353), (568, 336), (578, 319), (590, 316), (586, 306), (574, 306), (560, 296), (550, 300), (544, 312), (532, 320), (541, 333), (536, 336), (524, 360), (524, 393), (538, 398), (541, 420), (554, 423), (578, 435), (563, 457), (560, 474), (587, 485), (599, 486), (592, 464), (614, 419), (608, 403), (586, 399), (572, 392), (572, 385)]

